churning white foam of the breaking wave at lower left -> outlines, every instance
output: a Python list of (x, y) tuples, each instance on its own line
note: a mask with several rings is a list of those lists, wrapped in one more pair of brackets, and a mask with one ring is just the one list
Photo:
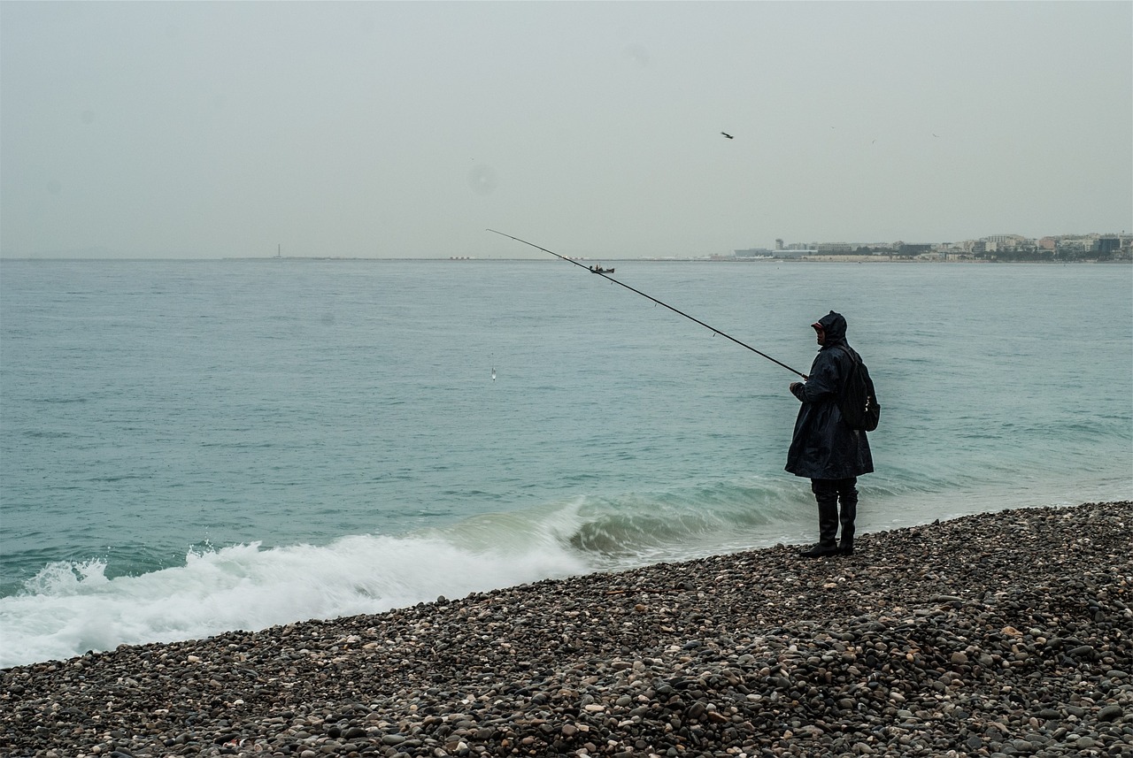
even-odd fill
[(242, 544), (185, 566), (107, 579), (105, 565), (57, 562), (0, 598), (0, 666), (121, 644), (196, 639), (300, 619), (378, 613), (586, 571), (550, 544), (468, 550), (441, 539), (350, 536), (325, 546)]

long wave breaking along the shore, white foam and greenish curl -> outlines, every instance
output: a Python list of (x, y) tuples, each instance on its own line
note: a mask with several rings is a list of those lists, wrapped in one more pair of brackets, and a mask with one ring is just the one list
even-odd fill
[(105, 558), (54, 561), (0, 598), (0, 666), (769, 544), (809, 525), (809, 507), (790, 505), (809, 493), (787, 489), (747, 482), (574, 498), (404, 535), (194, 550), (182, 565), (133, 576), (110, 576)]

